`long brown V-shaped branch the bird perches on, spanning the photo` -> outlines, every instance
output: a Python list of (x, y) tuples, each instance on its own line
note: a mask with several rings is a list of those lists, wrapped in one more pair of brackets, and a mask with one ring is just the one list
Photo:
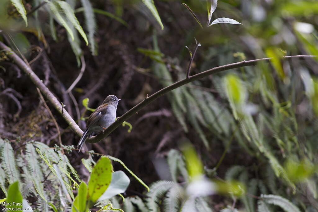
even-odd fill
[[(14, 51), (12, 51), (3, 42), (0, 42), (0, 49), (4, 50), (7, 53), (7, 57), (12, 59), (29, 76), (29, 78), (32, 80), (32, 82), (38, 87), (38, 89), (45, 96), (45, 98), (47, 98), (51, 102), (53, 107), (59, 112), (59, 114), (67, 122), (67, 124), (72, 128), (72, 130), (77, 135), (82, 136), (83, 131), (79, 128), (79, 126), (72, 119), (72, 117), (69, 115), (69, 113), (67, 113), (67, 111), (65, 109), (63, 109), (63, 106), (58, 101), (58, 99), (54, 96), (54, 94), (44, 85), (42, 80), (39, 79), (38, 76), (32, 71), (31, 67), (26, 65), (26, 63), (19, 56), (17, 56), (17, 54)], [(284, 56), (282, 59), (290, 59), (290, 58), (304, 59), (304, 58), (312, 58), (312, 57), (317, 57), (317, 56), (316, 55), (293, 55), (293, 56)], [(271, 59), (273, 59), (273, 58), (260, 58), (260, 59), (246, 60), (246, 61), (243, 60), (243, 61), (237, 62), (237, 63), (221, 65), (221, 66), (211, 68), (209, 70), (197, 73), (195, 75), (189, 76), (189, 78), (185, 78), (185, 79), (182, 79), (180, 81), (177, 81), (177, 82), (173, 83), (172, 85), (164, 87), (161, 90), (150, 95), (149, 97), (145, 98), (139, 104), (135, 105), (133, 108), (131, 108), (126, 113), (124, 113), (121, 117), (119, 117), (113, 124), (111, 124), (109, 127), (107, 127), (107, 129), (104, 131), (104, 133), (100, 133), (96, 136), (93, 136), (93, 137), (87, 139), (86, 142), (96, 143), (96, 142), (102, 140), (107, 135), (109, 135), (111, 132), (113, 132), (114, 129), (119, 127), (124, 121), (128, 120), (128, 118), (130, 118), (132, 115), (136, 114), (142, 108), (149, 105), (151, 102), (153, 102), (154, 100), (163, 96), (164, 94), (168, 93), (169, 91), (172, 91), (172, 90), (174, 90), (182, 85), (185, 85), (185, 84), (190, 83), (192, 81), (195, 81), (195, 80), (204, 78), (206, 76), (209, 76), (211, 74), (215, 74), (215, 73), (222, 72), (225, 70), (256, 65), (258, 62), (262, 62), (262, 61), (263, 62), (271, 62)]]

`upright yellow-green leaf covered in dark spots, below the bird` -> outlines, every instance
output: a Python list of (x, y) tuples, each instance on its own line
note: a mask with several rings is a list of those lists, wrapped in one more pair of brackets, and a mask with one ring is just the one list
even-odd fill
[(100, 198), (108, 188), (112, 179), (112, 164), (109, 158), (101, 157), (93, 167), (88, 182), (89, 207)]

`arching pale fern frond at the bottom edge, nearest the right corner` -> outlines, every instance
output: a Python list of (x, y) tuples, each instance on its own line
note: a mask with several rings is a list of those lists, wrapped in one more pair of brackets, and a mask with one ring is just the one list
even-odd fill
[(293, 204), (291, 203), (289, 200), (285, 199), (282, 196), (278, 196), (278, 195), (261, 195), (261, 198), (269, 203), (269, 204), (273, 204), (273, 205), (277, 205), (280, 208), (284, 209), (286, 212), (300, 212), (300, 210)]

